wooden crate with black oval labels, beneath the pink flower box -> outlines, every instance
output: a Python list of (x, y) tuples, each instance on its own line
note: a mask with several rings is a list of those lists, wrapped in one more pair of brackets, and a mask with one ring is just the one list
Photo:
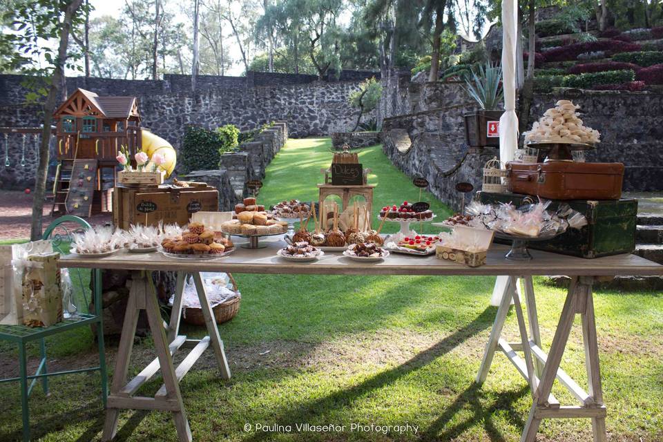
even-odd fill
[(189, 223), (192, 213), (218, 211), (219, 193), (215, 187), (159, 187), (113, 189), (113, 224), (128, 229), (131, 224), (156, 226)]

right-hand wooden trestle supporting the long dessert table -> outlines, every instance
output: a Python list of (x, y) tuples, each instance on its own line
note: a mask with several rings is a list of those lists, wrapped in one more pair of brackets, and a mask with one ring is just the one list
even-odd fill
[[(521, 302), (514, 299), (521, 341), (508, 343), (502, 339), (501, 332), (506, 321), (511, 298), (518, 294), (512, 289), (515, 277), (510, 277), (501, 303), (497, 309), (497, 317), (490, 332), (490, 338), (483, 354), (483, 361), (477, 383), (486, 381), (492, 358), (499, 348), (509, 361), (515, 365), (518, 372), (526, 378), (532, 391), (532, 407), (527, 423), (523, 430), (521, 442), (534, 442), (542, 419), (548, 418), (589, 418), (592, 419), (593, 439), (595, 442), (605, 442), (606, 435), (606, 407), (603, 404), (601, 388), (601, 375), (599, 370), (599, 356), (594, 315), (594, 302), (592, 296), (593, 278), (573, 278), (568, 294), (561, 311), (559, 323), (555, 330), (555, 337), (546, 354), (541, 349), (541, 336), (537, 318), (535, 294), (530, 276), (523, 278), (525, 284), (526, 305), (530, 326), (528, 334)], [(585, 347), (585, 365), (588, 376), (588, 392), (585, 392), (573, 378), (570, 378), (563, 369), (559, 368), (561, 357), (564, 354), (568, 336), (573, 326), (575, 315), (582, 318), (582, 336)], [(523, 352), (525, 361), (516, 354)], [(534, 361), (532, 361), (534, 359)], [(536, 364), (535, 364), (536, 363)], [(540, 376), (540, 377), (539, 377)], [(577, 398), (581, 405), (561, 406), (551, 393), (553, 382), (559, 380), (561, 385)]]

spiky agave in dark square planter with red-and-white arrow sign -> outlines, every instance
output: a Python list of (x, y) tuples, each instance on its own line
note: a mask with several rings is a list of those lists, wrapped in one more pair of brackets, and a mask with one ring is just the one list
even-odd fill
[(504, 112), (499, 108), (503, 97), (501, 78), (501, 68), (490, 62), (465, 75), (465, 90), (479, 105), (479, 110), (463, 114), (465, 140), (472, 147), (499, 147), (499, 117)]

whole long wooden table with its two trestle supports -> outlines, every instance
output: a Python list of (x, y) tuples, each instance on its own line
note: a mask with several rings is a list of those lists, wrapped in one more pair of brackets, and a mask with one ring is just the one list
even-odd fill
[[(502, 297), (501, 305), (490, 332), (490, 338), (483, 354), (483, 361), (476, 381), (486, 380), (492, 358), (500, 349), (526, 378), (532, 393), (532, 407), (525, 424), (521, 441), (533, 442), (541, 423), (547, 418), (587, 418), (592, 419), (595, 441), (606, 441), (606, 406), (601, 389), (599, 356), (595, 327), (592, 285), (596, 278), (622, 275), (662, 275), (663, 266), (634, 255), (609, 256), (586, 260), (554, 253), (531, 251), (534, 259), (528, 262), (509, 261), (504, 258), (507, 247), (494, 244), (488, 253), (486, 265), (477, 268), (465, 267), (454, 262), (439, 260), (434, 256), (419, 257), (392, 253), (383, 262), (364, 263), (349, 260), (340, 253), (327, 253), (316, 262), (289, 262), (276, 256), (283, 247), (281, 237), (271, 237), (264, 249), (243, 249), (236, 247), (234, 253), (214, 260), (189, 262), (173, 260), (160, 253), (115, 253), (104, 258), (79, 258), (64, 256), (61, 267), (124, 269), (133, 271), (126, 316), (122, 328), (115, 363), (115, 372), (108, 396), (106, 421), (102, 439), (109, 441), (117, 431), (119, 410), (166, 410), (173, 413), (175, 427), (180, 441), (191, 441), (191, 430), (182, 403), (179, 381), (189, 371), (202, 352), (212, 346), (220, 367), (222, 378), (230, 378), (230, 369), (218, 327), (216, 326), (209, 301), (204, 294), (204, 284), (200, 277), (203, 271), (224, 271), (231, 273), (264, 274), (322, 274), (322, 275), (425, 275), (425, 276), (496, 276), (506, 275), (509, 283)], [(238, 244), (237, 244), (238, 245)], [(162, 320), (156, 293), (151, 287), (151, 271), (169, 270), (177, 272), (177, 289), (170, 323)], [(182, 288), (184, 277), (192, 274), (200, 296), (202, 312), (206, 320), (209, 336), (201, 340), (187, 340), (179, 334), (182, 310)], [(541, 348), (541, 336), (537, 320), (537, 306), (532, 276), (567, 275), (571, 277), (570, 288), (564, 301), (559, 323), (548, 354)], [(524, 280), (524, 302), (527, 305), (528, 321), (515, 290), (517, 278)], [(247, 296), (250, 287), (246, 287)], [(501, 338), (501, 331), (510, 308), (511, 300), (519, 326), (521, 340), (510, 343)], [(488, 302), (488, 299), (486, 299)], [(157, 353), (152, 363), (140, 374), (127, 382), (126, 375), (135, 335), (138, 312), (145, 309)], [(573, 326), (575, 315), (582, 318), (582, 336), (585, 348), (585, 364), (588, 376), (588, 390), (580, 387), (564, 370), (559, 368), (562, 354)], [(529, 329), (528, 329), (529, 328)], [(193, 346), (182, 363), (173, 366), (173, 353), (180, 347)], [(521, 352), (523, 357), (517, 352)], [(154, 397), (135, 396), (140, 386), (148, 381), (161, 368), (164, 385)], [(560, 405), (551, 394), (555, 378), (564, 385), (579, 401), (578, 405)]]

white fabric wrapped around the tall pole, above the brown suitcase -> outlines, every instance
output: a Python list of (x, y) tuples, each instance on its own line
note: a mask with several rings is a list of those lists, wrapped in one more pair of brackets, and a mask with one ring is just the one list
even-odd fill
[(516, 46), (518, 1), (502, 0), (502, 87), (504, 113), (499, 119), (499, 160), (512, 161), (518, 147), (516, 115)]

